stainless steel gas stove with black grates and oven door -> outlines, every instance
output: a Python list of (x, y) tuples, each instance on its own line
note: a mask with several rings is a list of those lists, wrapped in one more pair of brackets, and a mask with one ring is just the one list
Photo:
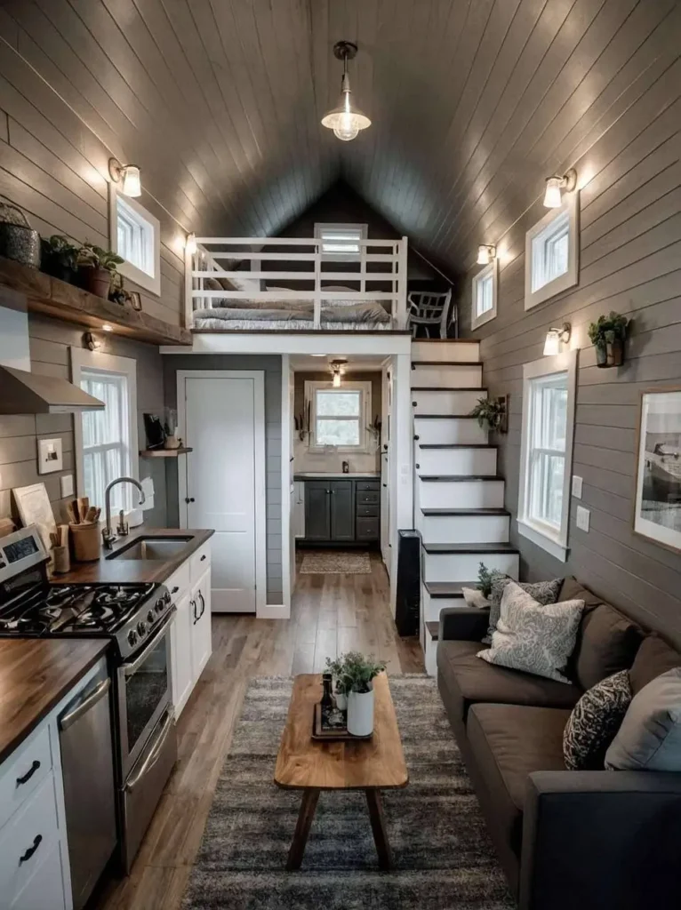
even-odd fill
[(158, 583), (50, 583), (35, 527), (0, 538), (0, 637), (108, 638), (122, 861), (132, 860), (177, 758), (170, 627)]

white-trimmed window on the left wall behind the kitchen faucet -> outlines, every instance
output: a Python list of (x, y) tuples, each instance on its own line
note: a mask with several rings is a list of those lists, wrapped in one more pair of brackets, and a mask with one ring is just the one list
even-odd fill
[[(119, 477), (137, 479), (139, 473), (137, 363), (76, 348), (71, 349), (71, 358), (74, 384), (105, 403), (104, 410), (85, 410), (76, 415), (78, 495), (104, 509), (108, 484)], [(112, 511), (133, 508), (130, 484), (115, 487), (111, 493)]]

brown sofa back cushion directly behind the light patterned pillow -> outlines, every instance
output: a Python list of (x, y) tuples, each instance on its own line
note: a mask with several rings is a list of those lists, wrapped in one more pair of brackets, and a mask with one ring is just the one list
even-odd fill
[(579, 581), (565, 579), (559, 602), (575, 599), (584, 601), (584, 612), (567, 673), (583, 689), (591, 689), (596, 682), (631, 667), (644, 632)]

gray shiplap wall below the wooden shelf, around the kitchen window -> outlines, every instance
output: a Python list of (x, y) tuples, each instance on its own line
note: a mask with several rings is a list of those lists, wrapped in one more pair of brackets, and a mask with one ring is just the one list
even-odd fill
[[(56, 319), (31, 314), (28, 332), (32, 371), (70, 379), (69, 348), (83, 346), (85, 331)], [(145, 439), (142, 414), (145, 411), (162, 412), (163, 409), (163, 367), (158, 348), (106, 332), (98, 333), (97, 340), (101, 341), (102, 353), (137, 361), (137, 433), (142, 448)], [(13, 513), (13, 487), (43, 481), (57, 521), (66, 521), (59, 479), (65, 474), (73, 474), (76, 488), (73, 422), (71, 414), (0, 415), (0, 517)], [(55, 436), (62, 440), (64, 470), (39, 475), (36, 440)], [(154, 480), (156, 490), (154, 508), (145, 511), (145, 522), (151, 527), (163, 528), (166, 526), (165, 467), (156, 460), (139, 459), (139, 476)], [(103, 502), (97, 504), (104, 506)]]

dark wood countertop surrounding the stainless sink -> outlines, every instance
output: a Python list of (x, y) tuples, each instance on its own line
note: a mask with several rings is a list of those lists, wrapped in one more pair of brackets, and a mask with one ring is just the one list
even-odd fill
[[(71, 571), (66, 575), (54, 575), (53, 584), (75, 584), (90, 581), (122, 583), (124, 581), (166, 581), (179, 566), (212, 537), (215, 531), (198, 531), (188, 528), (145, 528), (144, 525), (130, 531), (127, 537), (119, 538), (111, 550), (104, 550), (96, 562), (72, 562)], [(107, 556), (123, 550), (140, 537), (188, 537), (183, 547), (171, 560), (110, 560)]]

